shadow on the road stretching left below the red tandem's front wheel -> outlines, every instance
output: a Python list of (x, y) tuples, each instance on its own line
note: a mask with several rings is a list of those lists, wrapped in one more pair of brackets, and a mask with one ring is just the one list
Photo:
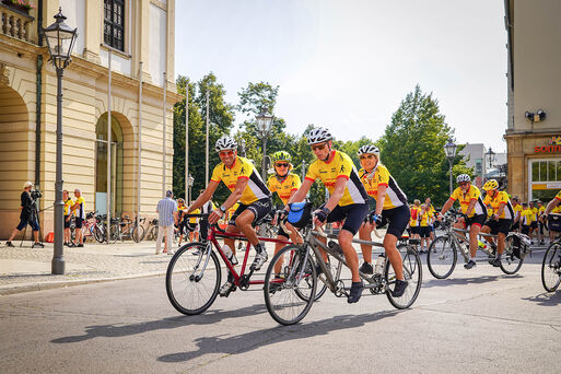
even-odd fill
[(86, 326), (85, 335), (62, 337), (51, 340), (54, 343), (73, 343), (80, 342), (93, 338), (120, 338), (137, 334), (143, 334), (154, 330), (174, 329), (178, 327), (189, 325), (211, 325), (222, 319), (245, 317), (247, 315), (256, 315), (267, 312), (264, 304), (255, 304), (252, 306), (243, 307), (235, 311), (223, 312), (222, 309), (209, 311), (204, 314), (197, 316), (184, 316), (179, 315), (176, 317), (168, 317), (157, 320), (143, 322), (132, 325), (100, 325), (100, 326)]

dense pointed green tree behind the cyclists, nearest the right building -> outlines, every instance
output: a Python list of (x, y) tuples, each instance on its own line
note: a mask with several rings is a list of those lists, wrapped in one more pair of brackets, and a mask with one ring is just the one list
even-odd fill
[[(442, 204), (449, 196), (448, 161), (444, 144), (453, 131), (440, 113), (439, 102), (417, 85), (399, 105), (377, 142), (381, 161), (406, 192), (408, 199), (431, 197)], [(472, 174), (463, 156), (455, 160), (454, 176)]]

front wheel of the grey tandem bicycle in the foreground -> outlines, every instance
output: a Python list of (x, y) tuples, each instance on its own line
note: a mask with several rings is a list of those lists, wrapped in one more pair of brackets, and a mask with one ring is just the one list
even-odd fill
[[(274, 271), (278, 264), (279, 273)], [(297, 245), (285, 246), (274, 255), (265, 276), (265, 304), (269, 314), (281, 325), (299, 323), (314, 303), (316, 285), (316, 268), (307, 250)]]

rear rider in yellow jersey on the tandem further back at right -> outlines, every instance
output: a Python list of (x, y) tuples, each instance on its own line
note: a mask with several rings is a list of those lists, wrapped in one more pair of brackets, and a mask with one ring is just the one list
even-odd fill
[[(487, 220), (481, 229), (482, 233), (496, 235), (496, 257), (490, 261), (495, 268), (501, 266), (501, 257), (505, 245), (504, 239), (509, 235), (514, 219), (514, 209), (511, 199), (509, 199), (509, 194), (499, 191), (498, 188), (499, 183), (495, 179), (489, 179), (483, 185), (483, 189), (487, 192), (483, 203), (493, 208), (493, 215)], [(491, 243), (493, 242), (491, 237), (487, 239)]]

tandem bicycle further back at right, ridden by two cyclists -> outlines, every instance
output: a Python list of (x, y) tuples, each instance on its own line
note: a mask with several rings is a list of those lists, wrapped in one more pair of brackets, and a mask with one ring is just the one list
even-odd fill
[[(452, 274), (458, 260), (458, 253), (466, 264), (469, 261), (469, 241), (464, 236), (468, 231), (453, 226), (460, 215), (453, 209), (448, 210), (442, 220), (444, 235), (437, 236), (429, 247), (426, 266), (434, 278), (446, 279)], [(496, 235), (491, 234), (480, 233), (479, 235), (496, 238)], [(529, 243), (529, 237), (524, 234), (510, 233), (506, 236), (501, 260), (501, 270), (505, 274), (515, 274), (521, 269), (524, 258), (531, 252)], [(479, 249), (488, 256), (489, 261), (495, 258), (496, 246), (494, 244), (487, 247), (480, 246)]]

